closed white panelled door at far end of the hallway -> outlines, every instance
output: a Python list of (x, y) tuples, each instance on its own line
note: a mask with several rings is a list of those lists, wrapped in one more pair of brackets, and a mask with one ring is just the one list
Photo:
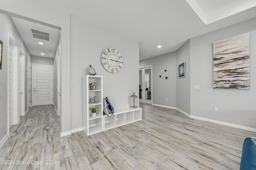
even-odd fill
[(32, 64), (33, 106), (53, 104), (53, 66)]

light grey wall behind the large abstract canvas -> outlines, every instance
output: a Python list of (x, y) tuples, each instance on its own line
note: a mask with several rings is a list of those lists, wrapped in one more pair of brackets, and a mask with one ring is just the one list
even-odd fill
[[(191, 115), (256, 128), (255, 23), (253, 18), (190, 39)], [(250, 90), (213, 89), (212, 43), (244, 33), (250, 33)]]

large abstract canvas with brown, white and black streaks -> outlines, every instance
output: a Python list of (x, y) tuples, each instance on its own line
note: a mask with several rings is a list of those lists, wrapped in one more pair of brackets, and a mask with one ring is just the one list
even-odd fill
[(213, 43), (213, 88), (250, 89), (250, 33)]

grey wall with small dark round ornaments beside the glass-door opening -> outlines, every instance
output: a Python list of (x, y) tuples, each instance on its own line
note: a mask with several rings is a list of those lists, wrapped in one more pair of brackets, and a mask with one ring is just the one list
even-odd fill
[(149, 65), (153, 66), (153, 104), (176, 107), (176, 52), (140, 61), (140, 67)]

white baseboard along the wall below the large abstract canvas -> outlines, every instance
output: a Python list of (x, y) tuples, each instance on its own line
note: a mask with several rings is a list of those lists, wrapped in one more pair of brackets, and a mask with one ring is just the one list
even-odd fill
[(213, 120), (213, 119), (207, 119), (207, 118), (204, 118), (204, 117), (198, 117), (198, 116), (193, 116), (193, 115), (190, 115), (190, 118), (192, 118), (192, 119), (198, 119), (198, 120), (202, 120), (202, 121), (208, 121), (208, 122), (216, 123), (216, 124), (219, 124), (219, 125), (225, 125), (225, 126), (229, 126), (229, 127), (235, 127), (235, 128), (243, 129), (243, 130), (246, 130), (246, 131), (256, 132), (256, 129), (255, 129), (255, 128), (246, 127), (246, 126), (242, 126), (242, 125), (236, 125), (236, 124), (232, 124), (232, 123), (227, 123), (227, 122), (224, 122), (224, 121), (218, 121), (218, 120)]

